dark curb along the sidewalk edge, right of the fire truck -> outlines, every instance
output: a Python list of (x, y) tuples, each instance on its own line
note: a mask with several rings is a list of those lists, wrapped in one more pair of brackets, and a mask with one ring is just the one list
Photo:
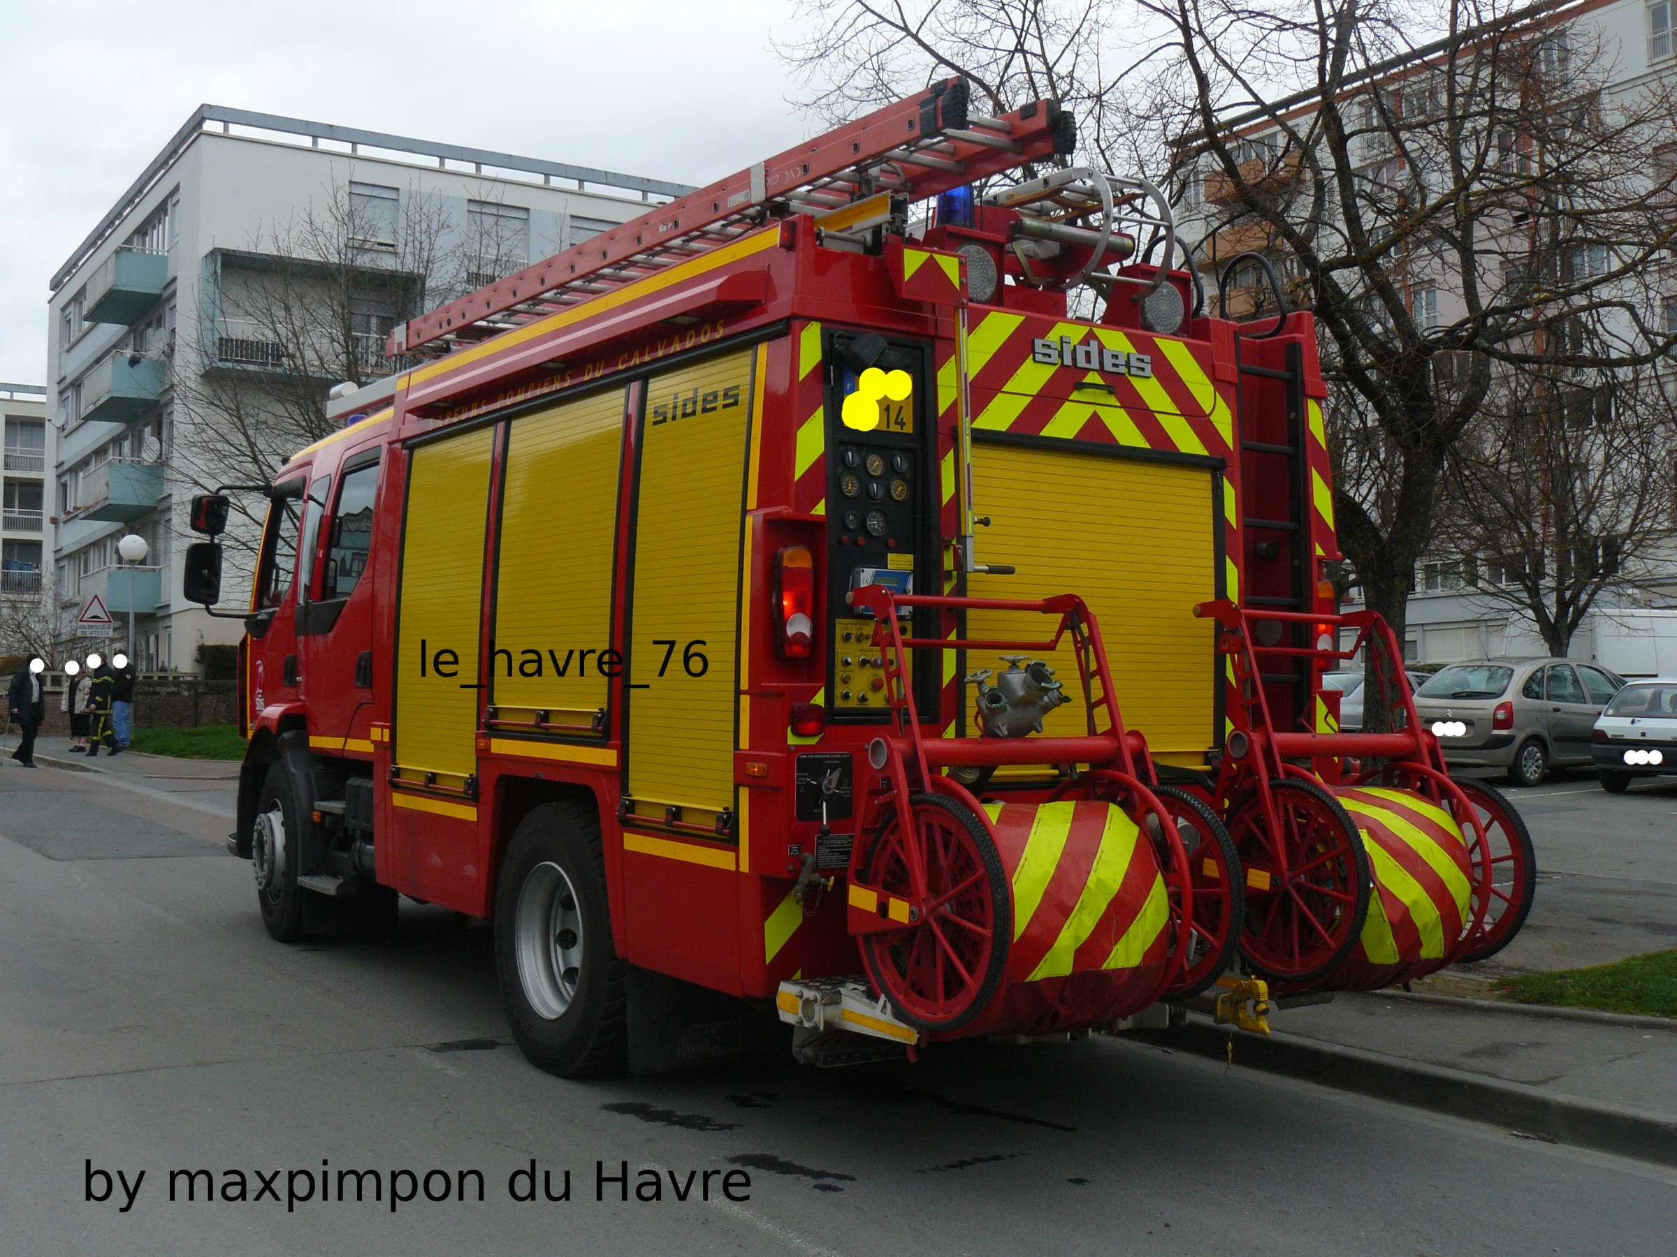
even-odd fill
[(1419, 1061), (1400, 1061), (1362, 1048), (1342, 1048), (1295, 1034), (1248, 1034), (1194, 1017), (1169, 1031), (1130, 1031), (1127, 1037), (1228, 1059), (1271, 1074), (1320, 1083), (1570, 1143), (1597, 1151), (1677, 1166), (1677, 1116), (1545, 1091), (1526, 1083), (1481, 1078)]

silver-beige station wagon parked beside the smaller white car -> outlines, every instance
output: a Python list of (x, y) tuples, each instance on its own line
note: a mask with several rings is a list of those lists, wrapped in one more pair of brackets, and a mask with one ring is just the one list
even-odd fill
[(1486, 659), (1427, 677), (1415, 712), (1451, 768), (1501, 768), (1513, 784), (1536, 786), (1550, 768), (1595, 763), (1595, 719), (1623, 684), (1568, 659)]

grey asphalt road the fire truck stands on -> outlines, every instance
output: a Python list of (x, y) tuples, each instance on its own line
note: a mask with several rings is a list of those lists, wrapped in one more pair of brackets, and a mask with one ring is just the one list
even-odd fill
[[(506, 1046), (486, 930), (406, 905), (401, 942), (282, 947), (225, 830), (163, 791), (0, 771), (7, 1257), (1677, 1244), (1670, 1172), (1114, 1039), (565, 1083)], [(570, 1170), (569, 1202), (510, 1198), (532, 1160), (555, 1190)], [(322, 1202), (322, 1161), (377, 1170), (384, 1198)], [(627, 1163), (632, 1185), (652, 1166), (698, 1177), (686, 1202), (667, 1177), (659, 1202), (615, 1183), (599, 1200), (597, 1163)], [(278, 1200), (211, 1203), (200, 1180), (171, 1202), (169, 1172), (195, 1168), (221, 1192), (243, 1172), (252, 1197), (268, 1175)], [(433, 1170), (446, 1202), (424, 1198)], [(723, 1198), (729, 1170), (748, 1198)], [(126, 1212), (119, 1178), (87, 1200), (101, 1172), (144, 1172)], [(392, 1185), (416, 1198), (392, 1212)]]

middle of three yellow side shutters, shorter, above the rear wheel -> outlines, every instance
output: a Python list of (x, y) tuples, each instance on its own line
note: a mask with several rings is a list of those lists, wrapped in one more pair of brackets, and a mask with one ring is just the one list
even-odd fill
[(585, 732), (605, 711), (622, 427), (622, 389), (511, 421), (493, 642), (506, 654), (490, 659), (501, 719), (547, 711)]

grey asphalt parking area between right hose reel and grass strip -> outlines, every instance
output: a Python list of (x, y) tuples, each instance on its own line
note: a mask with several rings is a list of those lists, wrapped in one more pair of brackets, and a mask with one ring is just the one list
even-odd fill
[(1608, 794), (1575, 769), (1501, 789), (1531, 830), (1538, 897), (1519, 937), (1476, 969), (1573, 969), (1677, 947), (1677, 778)]

